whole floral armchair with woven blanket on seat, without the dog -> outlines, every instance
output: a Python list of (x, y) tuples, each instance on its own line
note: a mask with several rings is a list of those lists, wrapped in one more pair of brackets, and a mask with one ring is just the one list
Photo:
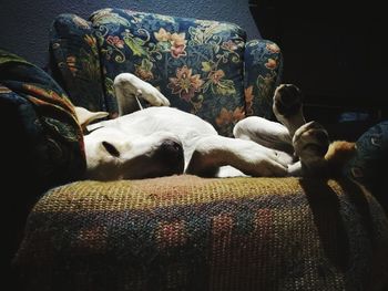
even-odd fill
[(247, 115), (272, 118), (275, 43), (246, 41), (232, 23), (104, 9), (59, 15), (50, 53), (59, 84), (0, 55), (0, 101), (22, 113), (28, 141), (39, 137), (33, 180), (51, 181), (13, 259), (24, 290), (382, 290), (387, 217), (349, 179), (82, 179), (68, 98), (114, 118), (112, 80), (132, 72), (229, 136)]

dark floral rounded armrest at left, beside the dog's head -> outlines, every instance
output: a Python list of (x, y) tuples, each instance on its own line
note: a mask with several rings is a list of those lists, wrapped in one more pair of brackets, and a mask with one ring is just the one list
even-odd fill
[[(7, 143), (24, 146), (23, 153), (17, 153), (10, 163), (19, 163), (22, 169), (31, 167), (28, 175), (42, 189), (83, 176), (81, 128), (73, 105), (50, 75), (0, 50), (0, 102), (4, 125), (16, 135)], [(7, 163), (2, 166), (7, 168)]]

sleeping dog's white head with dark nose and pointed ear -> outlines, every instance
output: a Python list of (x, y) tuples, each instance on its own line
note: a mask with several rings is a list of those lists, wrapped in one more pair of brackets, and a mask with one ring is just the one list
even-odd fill
[[(76, 110), (81, 126), (106, 114)], [(120, 118), (120, 117), (119, 117)], [(182, 174), (181, 141), (166, 132), (129, 136), (115, 126), (98, 123), (84, 135), (86, 178), (96, 180), (140, 179)]]

